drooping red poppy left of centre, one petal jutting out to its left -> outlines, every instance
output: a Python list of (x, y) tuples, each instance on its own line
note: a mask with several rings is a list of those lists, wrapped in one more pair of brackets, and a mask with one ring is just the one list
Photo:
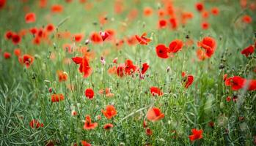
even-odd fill
[(84, 73), (84, 77), (89, 77), (89, 75), (92, 73), (92, 68), (89, 66), (89, 61), (86, 57), (74, 57), (72, 60), (76, 64), (80, 64), (79, 66), (79, 72)]

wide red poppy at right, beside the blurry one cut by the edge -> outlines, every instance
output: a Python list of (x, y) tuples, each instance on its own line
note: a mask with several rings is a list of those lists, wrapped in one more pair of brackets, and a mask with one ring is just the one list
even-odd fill
[(225, 85), (231, 86), (233, 91), (238, 91), (239, 89), (243, 88), (245, 83), (246, 80), (239, 76), (230, 77), (225, 80)]

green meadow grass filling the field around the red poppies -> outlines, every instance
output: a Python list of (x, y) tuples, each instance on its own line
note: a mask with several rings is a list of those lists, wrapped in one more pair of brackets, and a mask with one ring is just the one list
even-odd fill
[[(224, 74), (239, 75), (244, 78), (256, 79), (255, 53), (246, 58), (241, 55), (241, 50), (255, 43), (255, 11), (241, 9), (239, 1), (205, 1), (205, 7), (218, 7), (220, 14), (211, 15), (208, 22), (211, 27), (203, 31), (200, 26), (200, 14), (194, 8), (197, 1), (175, 1), (175, 7), (182, 7), (188, 12), (193, 12), (194, 18), (186, 26), (179, 26), (177, 30), (169, 28), (158, 29), (158, 15), (143, 16), (144, 7), (152, 7), (157, 11), (161, 2), (153, 0), (124, 1), (125, 11), (117, 15), (113, 11), (114, 1), (87, 1), (94, 4), (90, 10), (84, 9), (84, 4), (73, 1), (67, 4), (61, 0), (48, 1), (48, 7), (40, 9), (37, 1), (29, 0), (27, 3), (10, 0), (7, 6), (0, 10), (0, 145), (45, 145), (50, 140), (55, 145), (81, 144), (86, 140), (92, 145), (254, 145), (256, 135), (256, 107), (255, 91), (231, 91), (224, 85)], [(51, 4), (63, 4), (64, 12), (51, 15)], [(29, 7), (36, 13), (37, 21), (26, 24), (24, 21), (23, 7)], [(134, 21), (125, 20), (131, 9), (138, 9), (138, 17)], [(29, 12), (30, 12), (29, 11)], [(100, 31), (98, 16), (107, 13), (108, 23), (103, 30), (113, 28), (117, 39), (139, 36), (147, 32), (153, 39), (149, 45), (129, 46), (126, 43), (117, 48), (114, 43), (104, 42), (102, 45), (90, 43), (87, 47), (95, 52), (95, 58), (89, 62), (93, 69), (88, 78), (83, 78), (78, 72), (78, 65), (71, 61), (64, 64), (64, 58), (82, 56), (81, 53), (67, 53), (62, 49), (65, 43), (72, 43), (70, 39), (57, 39), (57, 31), (70, 31), (71, 34), (82, 33), (84, 40), (92, 31)], [(241, 23), (241, 15), (252, 16), (253, 23)], [(49, 19), (48, 19), (49, 17)], [(41, 27), (48, 23), (58, 26), (51, 34), (51, 45), (32, 44), (32, 35), (27, 34), (18, 46), (4, 39), (7, 30), (19, 31), (22, 28)], [(125, 31), (122, 31), (125, 23)], [(168, 59), (158, 58), (155, 47), (158, 44), (169, 45), (173, 39), (186, 41), (186, 35), (194, 40), (191, 47), (183, 47), (175, 57)], [(198, 61), (196, 50), (197, 41), (203, 37), (216, 39), (216, 52), (205, 61)], [(22, 53), (34, 55), (31, 67), (21, 66), (13, 50), (20, 47)], [(100, 64), (100, 56), (104, 50), (109, 50), (109, 55), (104, 55), (106, 65)], [(12, 53), (10, 59), (4, 59), (3, 53)], [(49, 58), (55, 53), (56, 59)], [(117, 77), (109, 74), (108, 69), (112, 60), (118, 57), (118, 63), (131, 59), (134, 64), (141, 66), (147, 62), (150, 69), (144, 80), (139, 80), (139, 74), (134, 77)], [(219, 66), (224, 66), (220, 69)], [(167, 67), (170, 72), (167, 72)], [(57, 70), (67, 72), (68, 80), (59, 82)], [(194, 82), (188, 88), (183, 88), (181, 72), (194, 75)], [(74, 85), (75, 90), (70, 91), (67, 85)], [(150, 94), (150, 87), (161, 88), (164, 95), (154, 97)], [(48, 88), (53, 88), (56, 93), (63, 93), (64, 101), (52, 103)], [(84, 96), (86, 88), (95, 91), (92, 100)], [(113, 97), (102, 96), (100, 89), (111, 88)], [(237, 102), (227, 102), (227, 96), (238, 96)], [(106, 105), (114, 104), (117, 116), (108, 120), (100, 112)], [(164, 112), (162, 120), (152, 123), (147, 121), (148, 127), (153, 130), (152, 136), (145, 134), (142, 123), (146, 118), (149, 107), (159, 107)], [(72, 116), (75, 109), (77, 116)], [(130, 115), (126, 117), (127, 115)], [(92, 121), (98, 127), (86, 131), (83, 129), (85, 115), (91, 115)], [(101, 115), (101, 120), (97, 116)], [(239, 120), (244, 117), (244, 120)], [(37, 119), (44, 123), (44, 127), (31, 128), (29, 122)], [(209, 122), (214, 127), (208, 126)], [(112, 123), (114, 128), (110, 131), (103, 129), (103, 125)], [(191, 129), (203, 129), (203, 138), (195, 142), (189, 141)], [(175, 131), (175, 132), (174, 132)]]

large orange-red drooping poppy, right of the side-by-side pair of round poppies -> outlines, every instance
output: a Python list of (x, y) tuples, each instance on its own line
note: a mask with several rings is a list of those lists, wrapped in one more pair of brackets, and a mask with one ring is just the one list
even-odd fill
[(197, 42), (197, 45), (205, 49), (205, 55), (208, 56), (208, 58), (211, 58), (211, 55), (213, 55), (216, 50), (216, 42), (211, 37), (203, 38), (202, 42)]

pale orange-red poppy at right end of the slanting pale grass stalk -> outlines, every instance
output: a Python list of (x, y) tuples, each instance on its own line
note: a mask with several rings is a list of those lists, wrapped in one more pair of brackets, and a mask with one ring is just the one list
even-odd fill
[(147, 111), (147, 120), (155, 122), (164, 118), (164, 113), (161, 112), (157, 107), (153, 107)]

